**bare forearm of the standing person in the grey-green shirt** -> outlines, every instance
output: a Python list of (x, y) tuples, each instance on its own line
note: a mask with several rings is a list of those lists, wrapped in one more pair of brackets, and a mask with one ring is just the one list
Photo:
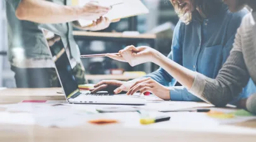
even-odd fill
[(44, 0), (22, 0), (16, 9), (21, 20), (35, 23), (66, 23), (79, 19), (80, 9)]

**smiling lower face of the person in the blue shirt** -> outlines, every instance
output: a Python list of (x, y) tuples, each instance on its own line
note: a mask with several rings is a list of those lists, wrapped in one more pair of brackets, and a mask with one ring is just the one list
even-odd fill
[(194, 0), (172, 0), (178, 4), (179, 9), (185, 13), (192, 13), (195, 10)]

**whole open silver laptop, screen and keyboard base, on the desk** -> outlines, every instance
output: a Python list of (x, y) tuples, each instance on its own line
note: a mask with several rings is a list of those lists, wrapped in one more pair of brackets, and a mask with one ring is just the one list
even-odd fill
[(146, 104), (146, 99), (144, 97), (139, 97), (138, 94), (136, 96), (127, 96), (126, 94), (114, 95), (107, 92), (97, 94), (80, 92), (61, 36), (52, 34), (52, 36), (45, 36), (45, 39), (47, 40), (50, 53), (54, 60), (55, 69), (61, 82), (62, 89), (64, 90), (64, 94), (66, 95), (67, 102), (72, 104)]

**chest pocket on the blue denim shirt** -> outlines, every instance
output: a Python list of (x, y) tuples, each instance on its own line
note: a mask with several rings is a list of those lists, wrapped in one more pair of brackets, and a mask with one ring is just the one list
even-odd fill
[(205, 47), (199, 61), (199, 72), (207, 77), (215, 78), (218, 74), (223, 58), (223, 45)]

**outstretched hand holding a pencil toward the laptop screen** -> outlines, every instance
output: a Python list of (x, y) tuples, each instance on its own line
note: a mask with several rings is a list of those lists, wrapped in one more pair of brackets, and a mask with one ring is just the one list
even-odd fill
[(158, 51), (149, 46), (135, 47), (133, 45), (127, 46), (124, 50), (119, 51), (119, 55), (107, 54), (107, 57), (119, 60), (121, 62), (128, 62), (132, 67), (146, 62), (154, 62), (154, 57), (158, 55)]

